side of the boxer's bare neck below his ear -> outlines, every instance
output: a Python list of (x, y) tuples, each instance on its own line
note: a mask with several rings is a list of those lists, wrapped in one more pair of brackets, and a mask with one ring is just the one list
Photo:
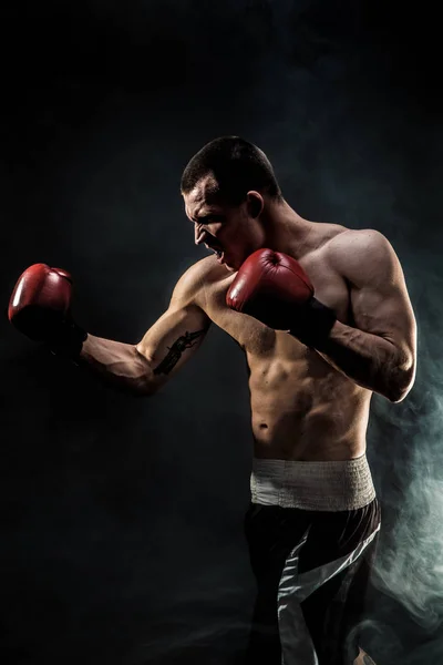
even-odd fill
[(284, 200), (270, 202), (264, 216), (265, 246), (275, 252), (301, 258), (308, 248), (308, 237), (315, 228), (312, 222), (300, 217)]

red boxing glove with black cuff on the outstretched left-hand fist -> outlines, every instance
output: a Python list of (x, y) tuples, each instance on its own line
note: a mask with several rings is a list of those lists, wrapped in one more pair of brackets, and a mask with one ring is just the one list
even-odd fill
[(8, 316), (11, 324), (54, 352), (75, 357), (86, 332), (71, 317), (72, 277), (61, 268), (34, 264), (20, 276), (12, 291)]

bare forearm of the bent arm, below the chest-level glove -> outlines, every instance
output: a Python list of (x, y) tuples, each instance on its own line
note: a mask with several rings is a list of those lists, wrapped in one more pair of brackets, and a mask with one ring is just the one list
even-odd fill
[(412, 362), (391, 341), (336, 321), (318, 352), (359, 386), (400, 401), (413, 380)]

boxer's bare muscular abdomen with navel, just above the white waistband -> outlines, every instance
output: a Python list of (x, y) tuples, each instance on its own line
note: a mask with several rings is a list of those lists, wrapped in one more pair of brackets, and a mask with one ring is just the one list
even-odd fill
[(371, 393), (317, 351), (292, 342), (285, 354), (278, 346), (265, 357), (248, 354), (255, 456), (307, 461), (363, 454)]

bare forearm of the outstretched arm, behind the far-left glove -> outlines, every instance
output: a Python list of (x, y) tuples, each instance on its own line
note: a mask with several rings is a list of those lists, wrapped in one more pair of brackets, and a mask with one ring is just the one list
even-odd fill
[(132, 395), (151, 395), (155, 389), (148, 360), (135, 345), (87, 335), (79, 365), (115, 388)]

